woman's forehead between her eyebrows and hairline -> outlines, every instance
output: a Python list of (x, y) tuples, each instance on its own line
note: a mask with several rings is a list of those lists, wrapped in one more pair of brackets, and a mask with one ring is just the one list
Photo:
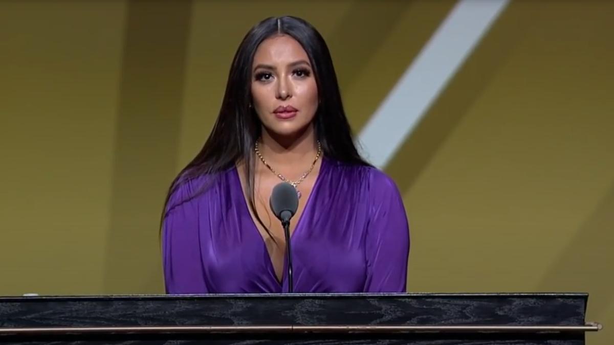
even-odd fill
[(265, 39), (254, 54), (254, 64), (284, 64), (297, 60), (309, 61), (307, 52), (297, 40), (287, 35)]

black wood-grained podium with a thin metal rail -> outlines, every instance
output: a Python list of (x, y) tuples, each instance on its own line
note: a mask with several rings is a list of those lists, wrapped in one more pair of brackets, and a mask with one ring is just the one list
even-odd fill
[(585, 344), (585, 293), (0, 298), (0, 344)]

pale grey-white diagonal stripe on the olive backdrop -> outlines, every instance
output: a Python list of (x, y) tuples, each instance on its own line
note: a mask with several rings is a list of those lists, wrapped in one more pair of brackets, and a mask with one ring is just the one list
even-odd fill
[(363, 157), (384, 168), (509, 0), (461, 0), (360, 132)]

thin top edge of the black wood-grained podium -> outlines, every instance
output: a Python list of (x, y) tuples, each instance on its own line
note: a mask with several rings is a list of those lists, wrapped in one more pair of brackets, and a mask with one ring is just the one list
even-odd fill
[(246, 294), (134, 294), (134, 295), (28, 295), (0, 296), (1, 301), (15, 300), (201, 300), (227, 298), (588, 298), (583, 292), (519, 293), (246, 293)]

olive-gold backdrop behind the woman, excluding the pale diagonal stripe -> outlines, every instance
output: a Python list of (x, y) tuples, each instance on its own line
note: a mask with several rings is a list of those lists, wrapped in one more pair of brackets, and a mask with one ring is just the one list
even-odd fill
[[(454, 4), (0, 1), (0, 295), (163, 292), (166, 187), (258, 20), (321, 31), (359, 133)], [(589, 292), (612, 343), (612, 14), (511, 1), (406, 138), (410, 292)]]

